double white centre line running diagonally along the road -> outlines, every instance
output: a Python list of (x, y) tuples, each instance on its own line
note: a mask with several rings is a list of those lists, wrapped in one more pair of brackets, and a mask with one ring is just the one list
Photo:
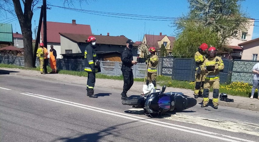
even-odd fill
[[(180, 131), (192, 133), (192, 134), (198, 134), (198, 135), (202, 135), (202, 136), (206, 136), (206, 137), (216, 138), (216, 139), (219, 139), (219, 140), (225, 140), (225, 141), (231, 141), (231, 142), (238, 142), (237, 140), (246, 141), (246, 142), (255, 142), (255, 141), (252, 141), (252, 140), (241, 139), (241, 138), (238, 138), (238, 137), (232, 137), (232, 136), (228, 136), (228, 135), (217, 134), (217, 133), (213, 133), (213, 132), (209, 132), (209, 131), (205, 131), (205, 130), (200, 130), (200, 129), (181, 126), (181, 125), (166, 123), (166, 122), (157, 121), (157, 120), (153, 120), (153, 119), (147, 119), (147, 118), (138, 117), (138, 116), (125, 114), (125, 113), (119, 113), (119, 112), (112, 111), (112, 110), (105, 110), (105, 109), (98, 108), (98, 107), (87, 106), (87, 105), (84, 105), (84, 104), (70, 102), (70, 101), (66, 101), (66, 100), (61, 100), (61, 99), (57, 99), (57, 98), (53, 98), (53, 97), (49, 97), (49, 96), (43, 96), (43, 95), (33, 94), (33, 93), (27, 93), (27, 94), (26, 93), (20, 93), (20, 94), (27, 95), (27, 96), (33, 96), (33, 97), (36, 97), (36, 98), (49, 100), (49, 101), (53, 101), (53, 102), (57, 102), (57, 103), (62, 103), (62, 104), (66, 104), (66, 105), (70, 105), (70, 106), (74, 106), (74, 107), (79, 107), (79, 108), (83, 108), (83, 109), (87, 109), (87, 110), (92, 110), (92, 111), (96, 111), (96, 112), (100, 112), (100, 113), (105, 113), (105, 114), (109, 114), (109, 115), (113, 115), (113, 116), (117, 116), (117, 117), (122, 117), (122, 118), (130, 119), (130, 120), (135, 120), (135, 121), (139, 121), (139, 122), (143, 122), (143, 123), (153, 124), (153, 125), (157, 125), (157, 126), (161, 126), (161, 127), (167, 127), (167, 128), (171, 128), (171, 129), (175, 129), (175, 130), (180, 130)], [(115, 113), (117, 113), (117, 114), (115, 114)], [(134, 118), (132, 118), (132, 117), (134, 117)], [(138, 118), (138, 119), (136, 119), (136, 118)], [(150, 121), (152, 121), (152, 122), (150, 122)], [(154, 123), (154, 122), (156, 122), (156, 123)], [(171, 125), (171, 126), (168, 126), (168, 125)], [(175, 127), (173, 127), (173, 126), (175, 126)], [(180, 128), (178, 128), (178, 127), (180, 127)], [(182, 128), (184, 128), (184, 129), (182, 129)], [(186, 130), (186, 129), (189, 129), (189, 130)], [(196, 131), (198, 131), (198, 132), (196, 132)], [(205, 133), (207, 133), (207, 134), (205, 134)], [(223, 136), (223, 137), (218, 137), (218, 136), (214, 136), (214, 135), (211, 135), (211, 134)], [(227, 138), (224, 138), (224, 137), (227, 137)], [(231, 139), (228, 139), (228, 138), (231, 138)]]

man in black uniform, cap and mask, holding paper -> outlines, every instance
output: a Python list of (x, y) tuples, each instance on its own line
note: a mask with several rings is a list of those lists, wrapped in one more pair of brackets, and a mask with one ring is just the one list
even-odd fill
[(127, 100), (129, 99), (127, 97), (127, 92), (130, 90), (131, 86), (133, 85), (133, 72), (132, 72), (132, 66), (137, 64), (137, 61), (133, 61), (132, 56), (132, 50), (133, 48), (133, 42), (131, 39), (128, 39), (126, 42), (126, 48), (122, 50), (121, 52), (121, 71), (123, 75), (123, 91), (121, 93), (121, 100)]

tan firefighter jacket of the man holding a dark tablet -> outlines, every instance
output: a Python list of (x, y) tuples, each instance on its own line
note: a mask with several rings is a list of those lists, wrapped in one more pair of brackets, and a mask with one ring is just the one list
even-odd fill
[[(215, 66), (215, 70), (205, 72), (207, 66)], [(205, 72), (206, 75), (205, 79), (209, 79), (209, 81), (219, 80), (219, 71), (222, 69), (224, 69), (224, 63), (219, 56), (214, 58), (210, 58), (209, 56), (201, 65), (201, 70)]]

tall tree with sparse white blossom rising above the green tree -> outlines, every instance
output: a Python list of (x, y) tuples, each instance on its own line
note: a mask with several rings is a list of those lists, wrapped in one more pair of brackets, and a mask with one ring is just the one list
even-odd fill
[[(240, 10), (243, 0), (188, 0), (190, 11), (182, 16), (195, 23), (207, 27), (219, 36), (217, 45), (219, 50), (227, 50), (230, 39), (240, 39), (242, 32), (247, 32), (251, 20), (247, 12)], [(189, 20), (178, 20), (174, 23), (178, 33), (185, 29)], [(234, 36), (237, 35), (237, 36)]]

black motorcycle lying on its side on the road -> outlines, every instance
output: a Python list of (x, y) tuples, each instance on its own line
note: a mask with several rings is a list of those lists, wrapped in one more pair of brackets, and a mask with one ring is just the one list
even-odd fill
[(160, 92), (149, 93), (147, 96), (123, 100), (123, 105), (143, 108), (145, 115), (157, 117), (167, 111), (181, 111), (197, 104), (197, 100), (180, 92), (164, 93), (166, 85)]

